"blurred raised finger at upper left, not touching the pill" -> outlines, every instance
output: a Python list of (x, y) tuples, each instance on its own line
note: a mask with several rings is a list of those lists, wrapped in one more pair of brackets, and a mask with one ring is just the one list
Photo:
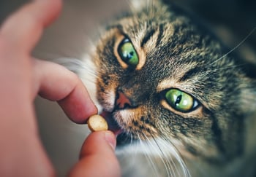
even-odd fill
[[(58, 17), (61, 0), (37, 0), (21, 7), (1, 27), (0, 39), (12, 51), (31, 52), (43, 28)], [(15, 49), (13, 49), (15, 47)]]

